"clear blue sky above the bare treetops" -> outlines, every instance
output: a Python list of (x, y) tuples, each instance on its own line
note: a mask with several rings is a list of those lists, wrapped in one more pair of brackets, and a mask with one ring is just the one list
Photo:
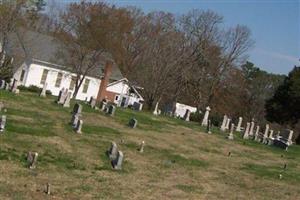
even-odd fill
[[(60, 0), (67, 3), (80, 0)], [(94, 0), (96, 1), (96, 0)], [(300, 65), (300, 0), (105, 0), (118, 7), (136, 6), (145, 13), (166, 11), (176, 15), (192, 9), (212, 10), (224, 17), (225, 27), (250, 28), (254, 47), (249, 61), (276, 74)]]

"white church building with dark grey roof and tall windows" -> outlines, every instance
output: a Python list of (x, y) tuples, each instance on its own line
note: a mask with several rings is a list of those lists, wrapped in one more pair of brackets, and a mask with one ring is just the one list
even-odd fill
[[(52, 37), (26, 31), (22, 36), (22, 43), (23, 46), (19, 47), (18, 53), (23, 52), (23, 61), (21, 59), (19, 65), (15, 67), (13, 75), (19, 85), (42, 88), (47, 83), (47, 90), (55, 96), (62, 88), (68, 89), (70, 92), (74, 91), (76, 74), (66, 70), (66, 67), (56, 60), (55, 55), (59, 45)], [(85, 100), (97, 97), (101, 78), (104, 76), (104, 67), (104, 64), (100, 65), (87, 74), (76, 99)], [(144, 101), (136, 87), (122, 76), (116, 65), (112, 67), (106, 90), (110, 93), (109, 100), (118, 106), (126, 107), (133, 105), (134, 102), (142, 103)]]

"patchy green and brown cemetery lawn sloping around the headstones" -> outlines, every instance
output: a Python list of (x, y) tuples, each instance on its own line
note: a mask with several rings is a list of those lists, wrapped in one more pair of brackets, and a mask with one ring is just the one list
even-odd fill
[[(0, 135), (1, 200), (300, 199), (299, 146), (285, 152), (237, 133), (229, 141), (197, 123), (121, 108), (110, 117), (84, 103), (79, 135), (69, 125), (74, 101), (63, 108), (54, 100), (0, 91), (7, 108)], [(127, 125), (131, 117), (138, 120), (136, 129)], [(139, 153), (142, 140), (146, 146)], [(124, 153), (122, 171), (112, 170), (105, 154), (111, 141)], [(36, 169), (27, 167), (28, 151), (39, 153)]]

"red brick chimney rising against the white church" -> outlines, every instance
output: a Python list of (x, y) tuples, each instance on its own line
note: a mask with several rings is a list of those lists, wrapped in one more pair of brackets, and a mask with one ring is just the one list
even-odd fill
[(101, 83), (97, 95), (98, 102), (102, 101), (107, 96), (106, 87), (109, 83), (109, 78), (112, 72), (112, 65), (113, 63), (111, 61), (107, 61), (105, 64), (104, 76), (101, 79)]

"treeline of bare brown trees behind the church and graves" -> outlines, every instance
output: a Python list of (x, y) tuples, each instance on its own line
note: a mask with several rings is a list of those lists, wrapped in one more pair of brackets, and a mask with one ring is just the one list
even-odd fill
[[(48, 12), (41, 13), (41, 0), (3, 2), (2, 41), (19, 26), (57, 38), (57, 60), (77, 73), (74, 96), (99, 59), (109, 57), (132, 84), (144, 88), (148, 109), (157, 102), (181, 102), (199, 110), (209, 105), (213, 115), (263, 122), (265, 101), (284, 79), (246, 62), (254, 45), (250, 30), (225, 27), (223, 17), (211, 10), (146, 14), (135, 7), (85, 1), (70, 3), (61, 12), (48, 5)], [(35, 2), (35, 9), (28, 2)]]

